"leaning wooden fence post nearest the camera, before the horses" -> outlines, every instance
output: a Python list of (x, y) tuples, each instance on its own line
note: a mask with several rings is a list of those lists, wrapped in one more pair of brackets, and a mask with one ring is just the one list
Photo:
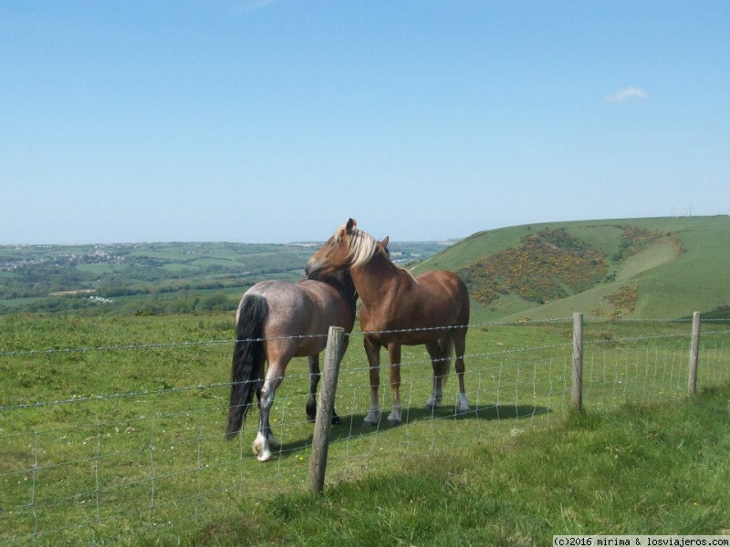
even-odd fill
[(319, 390), (317, 418), (314, 425), (314, 437), (312, 438), (312, 456), (309, 459), (309, 491), (311, 492), (321, 492), (325, 487), (329, 428), (332, 424), (332, 412), (335, 408), (339, 361), (342, 358), (344, 341), (345, 330), (339, 326), (330, 326), (327, 336), (327, 349), (325, 350), (324, 381)]

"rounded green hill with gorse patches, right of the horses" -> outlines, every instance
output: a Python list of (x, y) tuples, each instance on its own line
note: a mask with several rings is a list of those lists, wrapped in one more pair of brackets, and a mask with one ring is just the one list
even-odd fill
[(667, 319), (730, 305), (730, 217), (548, 222), (478, 232), (414, 268), (459, 273), (473, 321)]

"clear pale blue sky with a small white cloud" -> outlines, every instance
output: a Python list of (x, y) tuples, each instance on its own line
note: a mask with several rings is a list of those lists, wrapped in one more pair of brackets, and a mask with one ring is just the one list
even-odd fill
[(0, 0), (0, 244), (730, 213), (730, 2)]

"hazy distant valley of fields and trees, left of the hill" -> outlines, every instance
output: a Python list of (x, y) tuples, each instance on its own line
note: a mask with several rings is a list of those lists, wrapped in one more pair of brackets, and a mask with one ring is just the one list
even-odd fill
[[(400, 264), (454, 242), (391, 242)], [(0, 314), (159, 315), (235, 308), (263, 279), (297, 281), (321, 242), (0, 246)]]

